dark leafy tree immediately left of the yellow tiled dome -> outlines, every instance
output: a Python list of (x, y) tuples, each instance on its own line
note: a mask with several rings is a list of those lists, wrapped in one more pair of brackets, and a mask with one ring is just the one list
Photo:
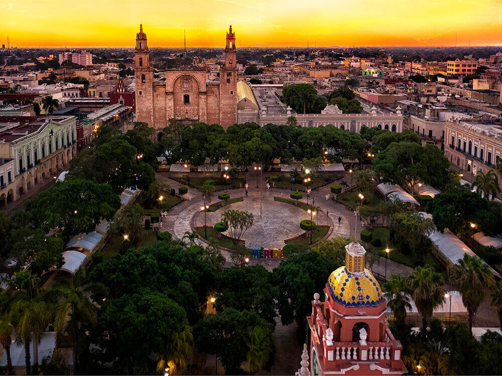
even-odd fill
[(314, 293), (322, 291), (329, 274), (339, 266), (311, 251), (294, 255), (273, 270), (272, 281), (279, 287), (277, 308), (283, 325), (296, 320), (299, 330), (304, 330)]

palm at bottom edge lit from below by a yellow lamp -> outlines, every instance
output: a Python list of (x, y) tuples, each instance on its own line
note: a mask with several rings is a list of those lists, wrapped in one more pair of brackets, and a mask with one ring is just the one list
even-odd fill
[(193, 354), (193, 344), (192, 327), (185, 320), (181, 330), (174, 333), (169, 340), (164, 354), (157, 356), (157, 371), (162, 372), (168, 366), (170, 373), (176, 371), (178, 374), (186, 374)]

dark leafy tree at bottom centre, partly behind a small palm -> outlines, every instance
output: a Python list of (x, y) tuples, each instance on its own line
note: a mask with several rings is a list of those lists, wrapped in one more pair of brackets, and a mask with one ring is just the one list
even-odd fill
[[(240, 364), (247, 357), (250, 350), (249, 327), (260, 326), (266, 337), (273, 340), (273, 325), (258, 316), (255, 312), (247, 310), (237, 311), (226, 308), (223, 312), (204, 316), (194, 328), (195, 343), (200, 351), (216, 354), (221, 359), (227, 374), (237, 373)], [(263, 339), (262, 339), (263, 340)], [(272, 365), (275, 354), (275, 345), (267, 359), (266, 365)]]

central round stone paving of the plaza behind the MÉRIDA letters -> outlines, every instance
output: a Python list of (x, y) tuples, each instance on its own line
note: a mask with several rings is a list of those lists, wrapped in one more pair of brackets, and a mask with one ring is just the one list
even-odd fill
[[(305, 202), (305, 200), (303, 200)], [(295, 205), (274, 201), (272, 195), (262, 197), (262, 215), (260, 216), (260, 197), (244, 197), (241, 202), (226, 205), (216, 212), (208, 212), (207, 225), (213, 226), (221, 221), (221, 215), (226, 210), (233, 209), (252, 213), (254, 216), (253, 226), (250, 227), (242, 237), (248, 248), (282, 248), (285, 239), (301, 235), (304, 231), (300, 228), (300, 221), (310, 220), (310, 215), (303, 209)], [(195, 215), (194, 225), (204, 225), (204, 214)], [(318, 225), (327, 225), (326, 212), (320, 212), (313, 217)], [(229, 235), (228, 232), (224, 233)]]

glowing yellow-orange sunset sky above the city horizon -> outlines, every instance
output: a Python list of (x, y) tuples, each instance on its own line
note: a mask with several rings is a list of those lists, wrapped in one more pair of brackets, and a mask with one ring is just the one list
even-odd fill
[(502, 45), (497, 1), (2, 1), (0, 44), (222, 47), (228, 24), (244, 46)]

